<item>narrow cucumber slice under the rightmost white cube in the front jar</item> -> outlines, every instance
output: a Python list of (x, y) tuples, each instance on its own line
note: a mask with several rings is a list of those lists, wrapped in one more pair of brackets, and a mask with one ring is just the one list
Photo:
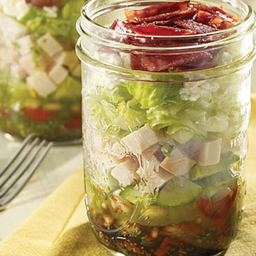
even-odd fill
[(217, 164), (209, 166), (194, 166), (188, 173), (189, 179), (191, 181), (195, 181), (219, 172), (223, 172), (228, 169), (230, 164), (237, 162), (238, 160), (239, 157), (237, 155), (234, 155), (232, 152), (227, 152), (221, 155), (220, 162)]

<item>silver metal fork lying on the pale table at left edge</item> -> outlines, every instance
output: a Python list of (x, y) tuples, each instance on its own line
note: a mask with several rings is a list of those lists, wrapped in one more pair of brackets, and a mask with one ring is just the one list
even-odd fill
[[(31, 141), (31, 138), (32, 136), (29, 135), (23, 141), (23, 143), (20, 145), (18, 150), (15, 152), (15, 154), (7, 161), (4, 167), (0, 170), (0, 207), (9, 203), (25, 187), (25, 185), (27, 184), (31, 176), (35, 173), (35, 170), (37, 169), (39, 164), (42, 162), (42, 160), (44, 160), (47, 153), (53, 146), (53, 142), (47, 142), (46, 140), (40, 140), (39, 138), (35, 138), (29, 144), (29, 142)], [(28, 144), (29, 144), (29, 147), (27, 148), (25, 154), (22, 157), (20, 157), (20, 159), (17, 159), (18, 156), (23, 151), (25, 151), (25, 147)], [(42, 150), (43, 147), (45, 147), (44, 150)], [(30, 158), (28, 158), (29, 156)], [(16, 159), (17, 161), (15, 163)], [(33, 167), (29, 168), (33, 162), (34, 162)], [(7, 170), (11, 167), (11, 165), (13, 165), (14, 163), (15, 165), (11, 168), (10, 172), (8, 172), (6, 176), (3, 176), (7, 172)], [(24, 166), (20, 167), (20, 165), (22, 164), (24, 164)], [(25, 173), (26, 173), (26, 176), (19, 183), (17, 183), (17, 181)], [(14, 175), (15, 177), (11, 179), (11, 177)]]

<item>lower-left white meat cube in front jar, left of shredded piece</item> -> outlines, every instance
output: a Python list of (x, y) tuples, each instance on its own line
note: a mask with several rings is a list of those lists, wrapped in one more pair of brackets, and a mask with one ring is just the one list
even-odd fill
[(129, 186), (135, 183), (135, 180), (139, 181), (139, 175), (135, 173), (137, 166), (137, 161), (126, 158), (111, 170), (111, 175), (123, 186)]

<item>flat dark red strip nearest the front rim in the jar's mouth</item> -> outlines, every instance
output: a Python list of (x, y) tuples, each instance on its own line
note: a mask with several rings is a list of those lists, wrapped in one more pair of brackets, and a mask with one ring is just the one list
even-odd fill
[(195, 34), (191, 30), (187, 29), (179, 29), (173, 27), (163, 27), (157, 26), (154, 24), (141, 24), (137, 26), (127, 26), (127, 28), (131, 29), (133, 32), (142, 34), (142, 35), (155, 35), (155, 36), (179, 36), (179, 35), (190, 35)]

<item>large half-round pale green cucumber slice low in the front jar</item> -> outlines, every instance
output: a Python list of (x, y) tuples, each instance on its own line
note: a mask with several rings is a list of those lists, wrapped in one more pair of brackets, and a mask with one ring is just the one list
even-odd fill
[(159, 192), (155, 204), (177, 207), (196, 200), (203, 188), (181, 176), (172, 178)]

